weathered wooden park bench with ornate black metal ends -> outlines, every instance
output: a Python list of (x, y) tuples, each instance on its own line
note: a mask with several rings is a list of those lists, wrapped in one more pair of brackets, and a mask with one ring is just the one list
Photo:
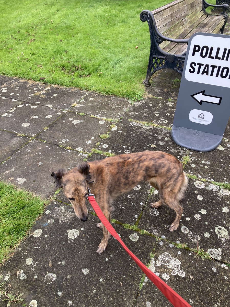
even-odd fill
[[(218, 15), (206, 11), (208, 6), (222, 9)], [(223, 34), (228, 20), (227, 4), (212, 5), (205, 0), (175, 0), (159, 9), (140, 13), (141, 21), (148, 21), (150, 55), (147, 75), (143, 83), (162, 68), (171, 68), (182, 74), (187, 44), (197, 32)]]

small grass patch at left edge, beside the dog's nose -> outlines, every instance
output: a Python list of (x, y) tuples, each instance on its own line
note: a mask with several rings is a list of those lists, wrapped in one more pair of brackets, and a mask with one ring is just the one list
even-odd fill
[(47, 200), (0, 181), (0, 263), (11, 256), (47, 203)]

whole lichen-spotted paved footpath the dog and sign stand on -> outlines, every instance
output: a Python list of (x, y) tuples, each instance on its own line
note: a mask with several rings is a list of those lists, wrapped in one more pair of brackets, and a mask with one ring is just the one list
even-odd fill
[(147, 183), (115, 201), (113, 226), (134, 254), (191, 306), (229, 306), (230, 192), (210, 183), (230, 181), (229, 123), (212, 152), (174, 144), (176, 77), (172, 71), (159, 73), (145, 98), (130, 102), (0, 76), (0, 179), (51, 198), (2, 267), (2, 279), (14, 293), (24, 293), (26, 306), (171, 306), (115, 239), (102, 255), (96, 253), (102, 231), (93, 209), (88, 204), (92, 214), (81, 222), (62, 191), (55, 195), (50, 176), (83, 159), (143, 150), (164, 151), (183, 161), (190, 179), (179, 228), (168, 231), (174, 211), (150, 207), (158, 193)]

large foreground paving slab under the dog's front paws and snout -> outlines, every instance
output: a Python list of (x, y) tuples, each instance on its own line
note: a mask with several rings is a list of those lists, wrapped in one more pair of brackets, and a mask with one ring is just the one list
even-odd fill
[[(91, 215), (83, 223), (71, 207), (52, 203), (4, 266), (4, 278), (8, 276), (11, 287), (25, 293), (28, 305), (36, 300), (38, 306), (46, 307), (132, 306), (141, 270), (113, 238), (102, 255), (96, 253), (102, 238), (97, 220)], [(137, 241), (131, 241), (132, 231), (114, 227), (146, 263), (155, 240), (139, 235)]]

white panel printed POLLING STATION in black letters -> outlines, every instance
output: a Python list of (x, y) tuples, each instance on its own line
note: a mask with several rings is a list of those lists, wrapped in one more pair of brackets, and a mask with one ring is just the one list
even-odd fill
[(230, 85), (230, 39), (196, 35), (192, 38), (185, 78), (222, 87)]

